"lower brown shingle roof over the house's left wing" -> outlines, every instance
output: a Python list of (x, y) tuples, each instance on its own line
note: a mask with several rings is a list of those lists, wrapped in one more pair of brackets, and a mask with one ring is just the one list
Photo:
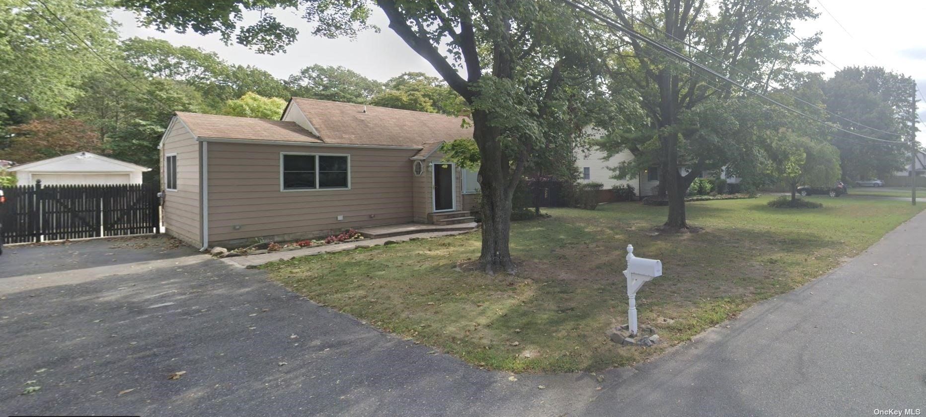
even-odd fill
[(240, 118), (216, 114), (176, 112), (196, 137), (321, 143), (319, 137), (294, 121)]

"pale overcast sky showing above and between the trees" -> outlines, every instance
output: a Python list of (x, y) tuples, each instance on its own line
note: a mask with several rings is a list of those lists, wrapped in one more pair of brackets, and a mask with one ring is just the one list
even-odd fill
[[(816, 31), (823, 32), (820, 48), (824, 57), (840, 67), (883, 66), (912, 76), (926, 95), (926, 38), (921, 31), (926, 22), (923, 0), (810, 0), (810, 6), (817, 8), (820, 18), (800, 24), (797, 34), (804, 37)], [(387, 27), (388, 22), (379, 9), (375, 10), (372, 21), (382, 32), (363, 32), (354, 41), (315, 37), (310, 34), (310, 26), (292, 12), (278, 11), (275, 15), (301, 32), (298, 42), (286, 53), (276, 56), (260, 55), (237, 44), (222, 44), (218, 35), (162, 33), (142, 28), (133, 14), (126, 11), (117, 12), (115, 18), (122, 24), (120, 32), (124, 37), (150, 36), (172, 44), (202, 47), (232, 63), (266, 69), (280, 78), (312, 64), (340, 65), (380, 81), (405, 71), (437, 75), (427, 61)], [(825, 64), (818, 70), (832, 74), (835, 68)], [(926, 106), (921, 102), (920, 118), (926, 119)], [(921, 124), (920, 129), (926, 131), (926, 125)], [(919, 139), (926, 143), (926, 132), (920, 132)]]

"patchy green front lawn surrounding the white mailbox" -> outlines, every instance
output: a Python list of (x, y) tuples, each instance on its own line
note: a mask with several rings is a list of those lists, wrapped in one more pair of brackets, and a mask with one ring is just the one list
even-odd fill
[[(512, 226), (517, 276), (461, 272), (478, 232), (281, 261), (264, 267), (295, 292), (474, 365), (513, 372), (594, 371), (659, 354), (758, 300), (838, 266), (912, 217), (900, 201), (811, 197), (820, 209), (769, 208), (770, 197), (687, 204), (699, 234), (654, 234), (665, 207), (551, 208)], [(627, 321), (624, 248), (662, 259), (637, 296), (641, 324), (667, 343), (619, 347)]]

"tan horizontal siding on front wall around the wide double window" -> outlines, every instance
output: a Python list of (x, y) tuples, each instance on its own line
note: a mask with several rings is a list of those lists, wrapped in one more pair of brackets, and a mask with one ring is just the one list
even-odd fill
[[(350, 155), (351, 189), (281, 191), (281, 152)], [(209, 241), (215, 244), (275, 235), (316, 237), (349, 228), (412, 221), (414, 176), (409, 158), (415, 152), (209, 143)], [(343, 221), (337, 220), (339, 215), (344, 216)]]

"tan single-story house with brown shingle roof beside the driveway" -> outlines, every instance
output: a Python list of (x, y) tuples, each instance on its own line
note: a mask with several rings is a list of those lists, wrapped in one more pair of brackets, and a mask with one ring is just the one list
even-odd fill
[(159, 145), (165, 228), (207, 247), (471, 221), (475, 175), (438, 150), (472, 137), (462, 121), (298, 97), (281, 120), (177, 112)]

